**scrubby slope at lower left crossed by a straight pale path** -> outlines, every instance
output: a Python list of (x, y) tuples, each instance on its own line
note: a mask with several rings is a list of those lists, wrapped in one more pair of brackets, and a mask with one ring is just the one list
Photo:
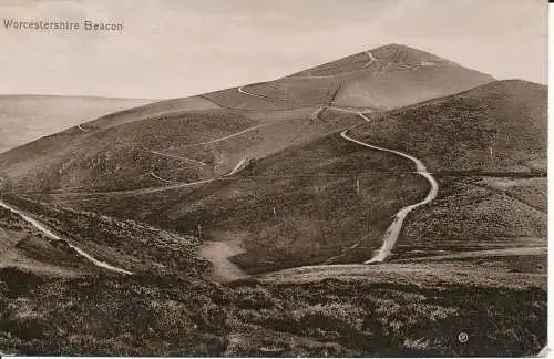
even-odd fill
[(0, 248), (0, 267), (17, 267), (47, 277), (98, 273), (195, 277), (207, 267), (207, 261), (196, 255), (198, 239), (191, 236), (10, 195), (2, 199), (49, 233), (0, 207), (0, 235), (7, 238)]

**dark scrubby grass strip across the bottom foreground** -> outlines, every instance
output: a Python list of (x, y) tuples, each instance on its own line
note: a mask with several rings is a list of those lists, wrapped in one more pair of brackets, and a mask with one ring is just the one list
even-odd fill
[(48, 279), (9, 268), (0, 284), (0, 348), (24, 355), (527, 356), (546, 340), (538, 287), (219, 286), (156, 274)]

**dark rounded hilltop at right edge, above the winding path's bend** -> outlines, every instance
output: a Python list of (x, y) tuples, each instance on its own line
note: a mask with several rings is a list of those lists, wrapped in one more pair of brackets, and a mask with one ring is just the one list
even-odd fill
[(432, 172), (546, 171), (546, 86), (496, 81), (383, 114), (351, 134), (406, 151)]

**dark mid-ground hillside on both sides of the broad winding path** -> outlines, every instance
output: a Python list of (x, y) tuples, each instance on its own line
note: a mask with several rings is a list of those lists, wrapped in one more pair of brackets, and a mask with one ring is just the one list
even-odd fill
[[(391, 260), (545, 245), (546, 180), (540, 166), (546, 158), (545, 99), (544, 86), (499, 81), (368, 113), (371, 122), (348, 131), (365, 143), (416, 156), (439, 182), (438, 197), (408, 216)], [(355, 116), (332, 109), (319, 115), (324, 122)], [(98, 197), (102, 201), (79, 194), (47, 198), (182, 233), (195, 234), (201, 225), (203, 240), (239, 238), (246, 253), (233, 260), (257, 273), (368, 259), (393, 214), (429, 191), (401, 156), (335, 133), (197, 187)]]

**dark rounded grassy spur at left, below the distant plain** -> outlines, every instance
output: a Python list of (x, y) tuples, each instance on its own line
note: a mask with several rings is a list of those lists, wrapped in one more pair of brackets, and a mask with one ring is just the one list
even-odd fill
[(134, 121), (93, 132), (72, 129), (9, 151), (0, 160), (0, 166), (17, 187), (34, 192), (155, 186), (160, 181), (151, 173), (167, 168), (181, 168), (181, 177), (192, 182), (213, 175), (213, 166), (194, 161), (213, 164), (214, 155), (206, 151), (198, 155), (187, 153), (181, 156), (183, 160), (171, 150), (257, 124), (227, 110), (212, 110)]

